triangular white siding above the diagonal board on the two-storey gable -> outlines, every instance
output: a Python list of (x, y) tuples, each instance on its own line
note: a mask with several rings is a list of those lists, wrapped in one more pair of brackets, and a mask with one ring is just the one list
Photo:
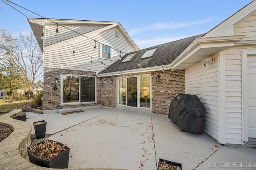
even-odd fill
[[(79, 36), (80, 34), (85, 34), (88, 33), (90, 31), (94, 31), (96, 29), (100, 29), (106, 25), (72, 25), (72, 26), (68, 26), (68, 25), (64, 25), (65, 27), (62, 26), (58, 26), (58, 37), (55, 35), (55, 31), (57, 29), (57, 25), (46, 25), (46, 30), (45, 30), (45, 35), (46, 35), (46, 39), (45, 39), (45, 44), (44, 46), (48, 46), (54, 43), (58, 43), (60, 41), (66, 40), (66, 39), (70, 39), (76, 36)], [(74, 31), (71, 31), (71, 30)], [(80, 34), (78, 34), (80, 33)]]

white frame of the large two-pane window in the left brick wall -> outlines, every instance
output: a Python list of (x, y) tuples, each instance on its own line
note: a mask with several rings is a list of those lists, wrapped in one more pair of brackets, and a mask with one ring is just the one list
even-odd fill
[[(80, 98), (79, 98), (79, 102), (70, 102), (70, 103), (63, 103), (63, 76), (70, 76), (72, 74), (60, 74), (60, 106), (66, 106), (66, 105), (78, 105), (78, 104), (96, 104), (97, 103), (97, 81), (96, 81), (96, 76), (88, 76), (88, 75), (78, 75), (78, 74), (73, 74), (72, 76), (78, 76), (79, 79), (79, 84), (80, 84), (80, 76), (86, 76), (86, 77), (94, 77), (94, 90), (95, 90), (95, 101), (94, 102), (80, 102)], [(80, 96), (80, 86), (79, 86), (79, 96)]]

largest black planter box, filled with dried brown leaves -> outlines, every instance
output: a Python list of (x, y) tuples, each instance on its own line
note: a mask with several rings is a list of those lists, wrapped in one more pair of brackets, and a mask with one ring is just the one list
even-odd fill
[[(50, 141), (50, 140), (46, 140), (46, 141)], [(40, 143), (36, 145), (39, 145), (39, 144)], [(59, 143), (59, 142), (57, 142), (57, 144), (61, 146), (63, 145), (62, 143)], [(46, 160), (46, 159), (42, 159), (35, 156), (30, 152), (29, 148), (27, 148), (29, 162), (31, 162), (32, 164), (36, 164), (38, 166), (47, 167), (47, 168), (61, 168), (61, 169), (68, 168), (68, 159), (69, 159), (70, 149), (67, 146), (65, 146), (65, 149), (66, 150), (64, 152), (57, 154), (52, 159)]]

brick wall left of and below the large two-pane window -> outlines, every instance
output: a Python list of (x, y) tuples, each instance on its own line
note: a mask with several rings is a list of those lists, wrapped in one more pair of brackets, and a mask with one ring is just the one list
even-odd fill
[[(60, 74), (76, 74), (76, 75), (96, 75), (95, 72), (80, 71), (77, 70), (67, 70), (58, 68), (44, 68), (44, 98), (43, 107), (44, 110), (52, 109), (63, 109), (63, 108), (73, 108), (73, 107), (85, 107), (85, 106), (95, 106), (98, 104), (70, 104), (65, 106), (60, 106)], [(53, 90), (55, 85), (55, 78), (58, 78), (58, 83), (56, 84), (58, 90)]]

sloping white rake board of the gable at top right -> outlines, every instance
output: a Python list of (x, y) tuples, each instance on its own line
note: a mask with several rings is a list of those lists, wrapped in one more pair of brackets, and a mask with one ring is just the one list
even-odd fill
[(204, 37), (216, 37), (219, 36), (222, 32), (226, 31), (230, 27), (233, 27), (237, 22), (244, 19), (246, 16), (250, 15), (252, 12), (256, 10), (256, 0), (253, 0), (248, 5), (246, 5), (244, 8), (224, 20), (222, 23), (208, 31), (204, 35)]

